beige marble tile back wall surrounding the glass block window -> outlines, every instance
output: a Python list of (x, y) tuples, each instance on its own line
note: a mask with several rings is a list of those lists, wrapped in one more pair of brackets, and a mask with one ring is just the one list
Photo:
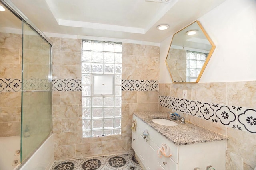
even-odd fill
[[(132, 111), (158, 111), (158, 91), (122, 91), (122, 134), (82, 138), (81, 39), (53, 42), (53, 132), (55, 160), (132, 152)], [(158, 80), (159, 47), (123, 43), (122, 79)], [(66, 81), (65, 81), (66, 80)], [(154, 81), (155, 82), (155, 81)], [(158, 81), (157, 83), (158, 86)], [(65, 86), (65, 88), (63, 88)], [(73, 90), (72, 90), (73, 89)]]

